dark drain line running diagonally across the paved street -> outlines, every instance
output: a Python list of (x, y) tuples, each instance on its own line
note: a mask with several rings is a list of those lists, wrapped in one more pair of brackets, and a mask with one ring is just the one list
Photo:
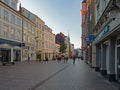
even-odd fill
[(32, 86), (31, 88), (29, 88), (28, 90), (35, 90), (35, 89), (37, 89), (38, 87), (40, 87), (41, 85), (43, 85), (45, 82), (47, 82), (48, 80), (50, 80), (51, 78), (53, 78), (54, 76), (56, 76), (57, 74), (59, 74), (61, 71), (65, 70), (68, 66), (69, 65), (66, 65), (65, 67), (63, 67), (59, 71), (55, 72), (51, 76), (47, 77), (46, 79), (42, 80), (41, 82), (36, 83), (34, 86)]

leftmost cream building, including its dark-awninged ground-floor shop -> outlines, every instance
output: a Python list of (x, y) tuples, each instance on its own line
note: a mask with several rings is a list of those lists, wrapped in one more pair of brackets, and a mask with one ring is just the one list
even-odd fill
[(0, 60), (21, 61), (22, 16), (17, 0), (0, 1)]

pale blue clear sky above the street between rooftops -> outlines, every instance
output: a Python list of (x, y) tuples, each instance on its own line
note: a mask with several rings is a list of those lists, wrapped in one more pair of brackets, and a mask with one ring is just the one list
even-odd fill
[(39, 16), (54, 34), (70, 36), (75, 48), (81, 48), (82, 0), (20, 0), (21, 6)]

